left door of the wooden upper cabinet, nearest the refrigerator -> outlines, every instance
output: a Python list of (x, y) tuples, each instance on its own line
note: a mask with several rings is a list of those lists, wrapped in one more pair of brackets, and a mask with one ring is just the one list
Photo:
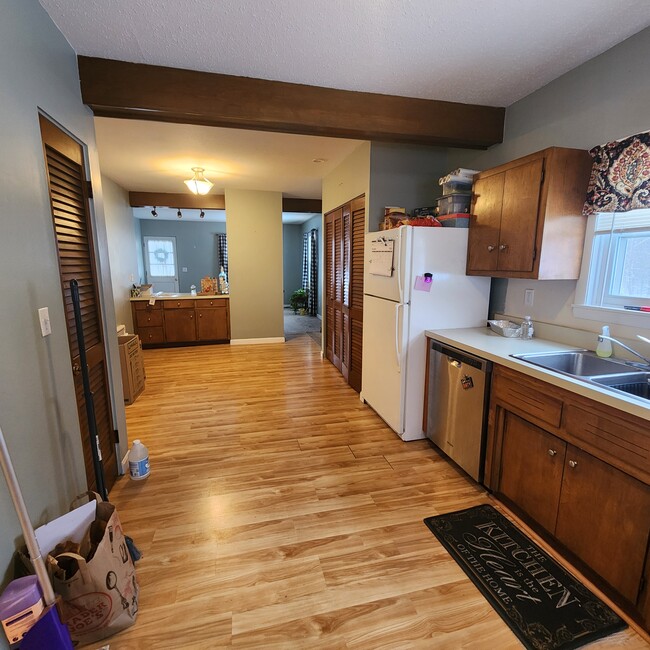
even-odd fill
[(467, 248), (468, 271), (496, 271), (505, 173), (474, 183), (472, 218)]

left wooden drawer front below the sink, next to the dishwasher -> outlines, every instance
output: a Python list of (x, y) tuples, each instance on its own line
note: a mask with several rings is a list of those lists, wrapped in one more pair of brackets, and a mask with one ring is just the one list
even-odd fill
[[(507, 372), (507, 371), (506, 371)], [(508, 377), (500, 368), (494, 372), (492, 379), (494, 397), (530, 415), (535, 420), (559, 427), (562, 421), (562, 400), (540, 393), (541, 383), (529, 383), (517, 373), (517, 378)]]

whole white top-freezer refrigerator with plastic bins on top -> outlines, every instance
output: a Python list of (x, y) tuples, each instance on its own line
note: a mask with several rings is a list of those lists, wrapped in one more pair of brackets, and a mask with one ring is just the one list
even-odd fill
[(403, 440), (425, 437), (425, 330), (486, 324), (491, 279), (465, 275), (467, 233), (366, 234), (361, 399)]

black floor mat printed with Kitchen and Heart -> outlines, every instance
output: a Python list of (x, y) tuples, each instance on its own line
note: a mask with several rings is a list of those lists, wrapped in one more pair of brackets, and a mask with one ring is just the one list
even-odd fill
[(627, 627), (490, 505), (424, 523), (529, 650), (570, 650)]

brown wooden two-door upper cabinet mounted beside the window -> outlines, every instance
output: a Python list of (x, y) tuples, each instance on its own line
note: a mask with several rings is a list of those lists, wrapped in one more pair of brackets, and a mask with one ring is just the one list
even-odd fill
[(591, 157), (551, 147), (474, 178), (468, 275), (575, 280)]

